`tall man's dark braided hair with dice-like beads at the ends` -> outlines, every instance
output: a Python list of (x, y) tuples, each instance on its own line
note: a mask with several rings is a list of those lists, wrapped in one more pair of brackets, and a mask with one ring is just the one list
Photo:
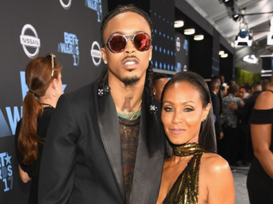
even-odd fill
[[(104, 45), (104, 41), (103, 41), (103, 34), (105, 31), (105, 27), (108, 25), (108, 22), (114, 18), (114, 16), (117, 16), (119, 14), (125, 13), (125, 12), (134, 12), (136, 14), (139, 14), (140, 16), (143, 16), (143, 18), (145, 19), (145, 21), (147, 21), (148, 25), (150, 26), (150, 30), (151, 30), (151, 35), (153, 36), (154, 34), (154, 29), (153, 29), (153, 25), (152, 25), (152, 20), (150, 19), (150, 16), (144, 12), (143, 10), (137, 8), (135, 5), (119, 5), (116, 9), (112, 10), (112, 12), (108, 12), (108, 14), (106, 14), (106, 16), (104, 17), (102, 23), (101, 23), (101, 43)], [(151, 37), (152, 37), (151, 36)], [(108, 67), (105, 67), (102, 71), (101, 71), (101, 76), (99, 78), (99, 95), (103, 96), (105, 94), (107, 94), (110, 91), (110, 87), (105, 86), (103, 83), (103, 80), (105, 78), (106, 73), (108, 72)], [(157, 107), (154, 104), (154, 91), (153, 91), (153, 87), (152, 87), (152, 83), (153, 83), (153, 76), (154, 76), (154, 72), (152, 71), (152, 66), (149, 63), (149, 67), (146, 71), (146, 79), (148, 82), (148, 89), (149, 89), (149, 98), (150, 98), (150, 106), (149, 106), (149, 110), (151, 113), (156, 113), (157, 111)]]

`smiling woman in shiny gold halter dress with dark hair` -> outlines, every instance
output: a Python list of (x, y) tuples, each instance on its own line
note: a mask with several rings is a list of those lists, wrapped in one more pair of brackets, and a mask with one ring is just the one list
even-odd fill
[(216, 154), (210, 91), (201, 76), (177, 73), (162, 93), (168, 137), (157, 204), (231, 204), (235, 201), (230, 166)]

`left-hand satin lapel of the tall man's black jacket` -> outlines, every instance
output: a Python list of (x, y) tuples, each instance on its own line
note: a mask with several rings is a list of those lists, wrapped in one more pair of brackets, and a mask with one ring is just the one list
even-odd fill
[(123, 165), (121, 156), (121, 139), (119, 131), (119, 118), (114, 101), (110, 93), (103, 97), (97, 97), (99, 131), (105, 152), (108, 155), (110, 166), (119, 186), (121, 196), (125, 199)]

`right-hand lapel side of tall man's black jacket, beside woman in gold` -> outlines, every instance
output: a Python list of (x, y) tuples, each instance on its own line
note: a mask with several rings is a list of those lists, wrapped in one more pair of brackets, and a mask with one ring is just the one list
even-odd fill
[[(143, 93), (141, 129), (134, 167), (130, 204), (156, 203), (163, 170), (165, 136), (160, 113), (148, 110), (148, 93)], [(157, 104), (158, 108), (159, 104)]]

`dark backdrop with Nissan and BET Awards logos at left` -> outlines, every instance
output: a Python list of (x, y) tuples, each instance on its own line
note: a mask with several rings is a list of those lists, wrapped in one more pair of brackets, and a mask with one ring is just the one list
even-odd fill
[(28, 62), (49, 52), (63, 65), (64, 92), (99, 77), (104, 0), (0, 1), (0, 203), (28, 203), (30, 184), (19, 179), (14, 132), (28, 91)]

